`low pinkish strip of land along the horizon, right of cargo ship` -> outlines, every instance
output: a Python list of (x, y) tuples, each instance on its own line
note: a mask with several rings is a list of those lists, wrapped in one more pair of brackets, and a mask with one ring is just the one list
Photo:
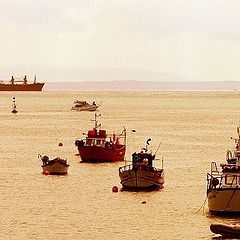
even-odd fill
[(220, 91), (240, 90), (240, 82), (95, 81), (49, 82), (44, 91)]

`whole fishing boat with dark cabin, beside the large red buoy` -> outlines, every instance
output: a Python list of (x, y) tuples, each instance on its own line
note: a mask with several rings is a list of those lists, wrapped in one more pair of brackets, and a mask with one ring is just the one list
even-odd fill
[(161, 169), (153, 166), (153, 161), (157, 160), (155, 159), (157, 151), (155, 154), (148, 151), (150, 141), (151, 139), (147, 140), (146, 147), (139, 153), (134, 152), (132, 154), (132, 162), (130, 165), (125, 164), (125, 166), (119, 168), (119, 177), (124, 188), (163, 188), (163, 162)]

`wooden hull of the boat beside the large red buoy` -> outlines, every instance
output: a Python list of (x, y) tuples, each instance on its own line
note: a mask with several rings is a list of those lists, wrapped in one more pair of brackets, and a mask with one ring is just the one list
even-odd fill
[(164, 175), (161, 171), (119, 171), (121, 184), (125, 188), (163, 188)]

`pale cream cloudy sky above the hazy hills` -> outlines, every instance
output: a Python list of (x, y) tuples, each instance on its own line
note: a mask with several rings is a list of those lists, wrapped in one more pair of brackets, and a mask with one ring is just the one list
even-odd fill
[(117, 68), (238, 81), (239, 12), (239, 0), (0, 0), (0, 69)]

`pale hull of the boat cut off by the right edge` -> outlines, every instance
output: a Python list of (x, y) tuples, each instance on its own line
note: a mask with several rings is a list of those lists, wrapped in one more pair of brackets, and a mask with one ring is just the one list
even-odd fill
[(207, 193), (208, 208), (212, 213), (240, 213), (240, 189), (211, 189)]

